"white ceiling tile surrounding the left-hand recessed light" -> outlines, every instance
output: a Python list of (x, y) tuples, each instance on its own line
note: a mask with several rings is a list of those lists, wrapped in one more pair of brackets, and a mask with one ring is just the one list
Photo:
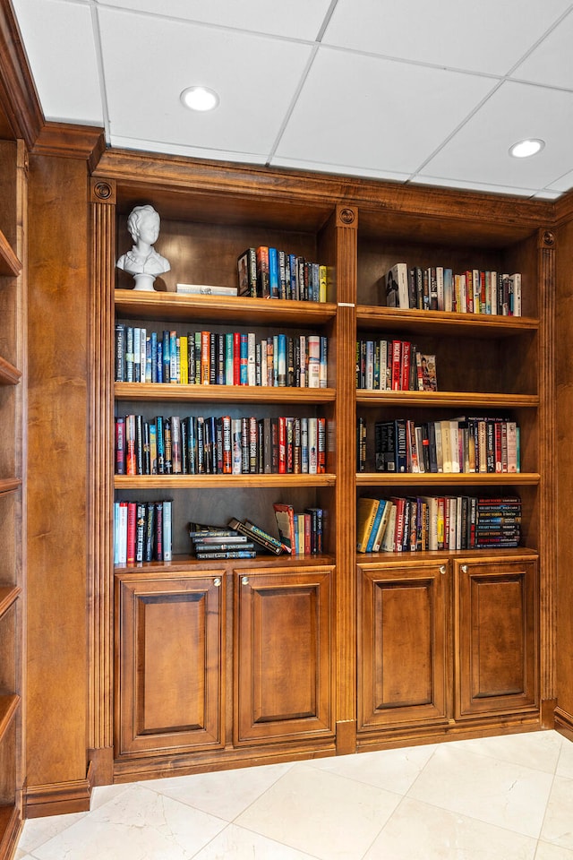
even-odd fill
[[(269, 152), (311, 47), (107, 8), (99, 19), (110, 135)], [(216, 110), (183, 107), (196, 84), (218, 92)]]

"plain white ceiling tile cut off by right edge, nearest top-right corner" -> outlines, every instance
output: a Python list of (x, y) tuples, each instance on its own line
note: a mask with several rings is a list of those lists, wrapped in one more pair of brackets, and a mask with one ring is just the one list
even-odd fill
[(543, 39), (512, 74), (514, 78), (573, 90), (573, 13)]

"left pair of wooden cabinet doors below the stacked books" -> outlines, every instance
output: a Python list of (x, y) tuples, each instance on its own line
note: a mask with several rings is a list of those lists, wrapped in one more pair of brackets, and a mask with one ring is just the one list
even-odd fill
[(117, 573), (115, 755), (333, 738), (333, 571)]

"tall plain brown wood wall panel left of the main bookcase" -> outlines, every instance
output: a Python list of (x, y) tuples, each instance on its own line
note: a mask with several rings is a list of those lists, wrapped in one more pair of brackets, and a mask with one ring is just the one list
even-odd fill
[(85, 161), (30, 158), (29, 815), (89, 796), (87, 191)]

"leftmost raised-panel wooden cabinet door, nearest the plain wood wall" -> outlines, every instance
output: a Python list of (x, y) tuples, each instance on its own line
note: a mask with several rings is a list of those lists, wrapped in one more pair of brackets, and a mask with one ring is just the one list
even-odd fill
[(116, 752), (222, 746), (224, 576), (126, 573), (115, 589)]

